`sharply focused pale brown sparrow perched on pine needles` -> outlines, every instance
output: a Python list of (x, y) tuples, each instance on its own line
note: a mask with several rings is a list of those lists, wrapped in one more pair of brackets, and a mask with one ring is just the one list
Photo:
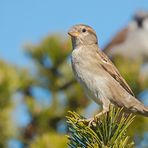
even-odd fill
[(99, 49), (96, 32), (90, 26), (78, 24), (68, 34), (72, 40), (74, 76), (86, 95), (102, 105), (103, 110), (96, 116), (108, 112), (110, 104), (123, 107), (127, 112), (148, 116), (148, 107), (135, 98), (117, 68)]

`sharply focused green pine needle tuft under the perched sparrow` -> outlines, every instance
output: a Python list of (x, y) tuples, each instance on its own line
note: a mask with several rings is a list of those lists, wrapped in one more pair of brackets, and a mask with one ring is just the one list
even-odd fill
[(67, 122), (69, 127), (70, 148), (131, 148), (134, 142), (127, 135), (127, 128), (134, 120), (132, 114), (126, 114), (123, 109), (110, 107), (110, 112), (95, 118), (90, 127), (88, 122), (81, 121), (84, 117), (75, 112), (69, 112)]

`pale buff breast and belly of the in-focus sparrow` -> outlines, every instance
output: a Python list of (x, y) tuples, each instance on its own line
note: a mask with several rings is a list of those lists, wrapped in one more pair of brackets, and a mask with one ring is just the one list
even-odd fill
[(107, 81), (103, 74), (93, 69), (89, 56), (81, 48), (74, 49), (71, 57), (72, 69), (77, 81), (81, 84), (87, 96), (94, 99), (96, 103), (102, 103), (106, 98)]

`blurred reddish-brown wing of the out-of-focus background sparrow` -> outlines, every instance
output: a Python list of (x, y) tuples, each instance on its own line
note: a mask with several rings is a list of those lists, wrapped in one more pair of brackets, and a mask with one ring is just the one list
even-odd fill
[(124, 28), (123, 30), (121, 30), (120, 32), (118, 32), (115, 37), (111, 40), (111, 42), (109, 44), (107, 44), (105, 46), (105, 48), (103, 49), (103, 51), (105, 53), (108, 53), (108, 51), (113, 48), (114, 46), (122, 43), (125, 41), (125, 38), (127, 36), (127, 32), (128, 32), (128, 28)]

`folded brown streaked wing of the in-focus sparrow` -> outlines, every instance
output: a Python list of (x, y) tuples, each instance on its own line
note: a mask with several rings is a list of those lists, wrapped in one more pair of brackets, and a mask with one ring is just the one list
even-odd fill
[(134, 96), (134, 93), (132, 92), (131, 88), (123, 79), (123, 77), (121, 76), (117, 68), (114, 66), (114, 64), (111, 62), (111, 60), (102, 51), (97, 50), (97, 53), (102, 59), (99, 60), (102, 68), (107, 71), (129, 94)]

